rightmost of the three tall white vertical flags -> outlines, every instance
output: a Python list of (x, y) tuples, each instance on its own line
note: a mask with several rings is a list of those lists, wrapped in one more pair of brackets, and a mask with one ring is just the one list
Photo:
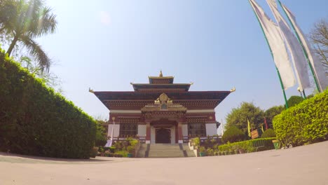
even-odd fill
[(328, 87), (328, 77), (325, 74), (324, 68), (322, 67), (322, 64), (320, 63), (320, 59), (315, 55), (313, 52), (310, 43), (304, 36), (301, 28), (296, 23), (296, 18), (294, 17), (293, 13), (289, 11), (289, 9), (282, 5), (282, 8), (284, 9), (285, 13), (287, 14), (287, 17), (289, 18), (290, 22), (292, 23), (293, 27), (295, 28), (296, 33), (299, 35), (299, 39), (301, 40), (301, 44), (303, 44), (306, 53), (308, 55), (308, 59), (310, 60), (310, 63), (312, 64), (313, 70), (315, 72), (315, 76), (317, 78), (317, 82), (319, 83), (320, 89), (324, 90)]

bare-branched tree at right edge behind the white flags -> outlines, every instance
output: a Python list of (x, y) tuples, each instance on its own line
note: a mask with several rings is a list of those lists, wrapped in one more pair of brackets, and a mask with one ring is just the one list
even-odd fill
[(320, 20), (316, 22), (310, 32), (315, 53), (320, 57), (322, 65), (328, 71), (328, 21)]

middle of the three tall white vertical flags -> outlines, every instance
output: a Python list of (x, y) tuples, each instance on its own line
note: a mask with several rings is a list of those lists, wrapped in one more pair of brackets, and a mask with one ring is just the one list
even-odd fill
[(306, 57), (303, 53), (302, 46), (297, 41), (296, 36), (294, 36), (293, 32), (290, 30), (287, 22), (282, 18), (278, 11), (278, 6), (275, 3), (275, 0), (266, 0), (268, 5), (271, 8), (271, 11), (275, 17), (275, 20), (278, 22), (278, 26), (280, 27), (280, 32), (285, 38), (285, 43), (287, 48), (289, 49), (290, 57), (292, 57), (292, 62), (295, 67), (295, 73), (297, 81), (299, 81), (299, 88), (301, 91), (305, 88), (310, 88), (310, 78), (308, 76), (308, 63), (306, 61)]

